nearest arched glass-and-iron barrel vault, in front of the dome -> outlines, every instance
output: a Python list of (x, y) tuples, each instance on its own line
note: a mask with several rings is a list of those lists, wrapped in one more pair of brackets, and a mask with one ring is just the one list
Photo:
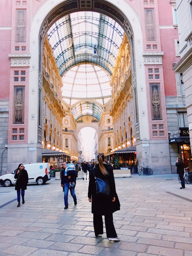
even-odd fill
[[(79, 63), (94, 63), (112, 74), (123, 38), (122, 27), (96, 12), (76, 12), (59, 19), (48, 39), (60, 75)], [(99, 58), (92, 58), (94, 45)]]

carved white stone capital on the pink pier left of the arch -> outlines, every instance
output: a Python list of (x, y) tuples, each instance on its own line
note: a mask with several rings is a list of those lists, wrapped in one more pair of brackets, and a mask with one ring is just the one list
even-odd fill
[(10, 67), (29, 67), (31, 54), (29, 53), (10, 53)]

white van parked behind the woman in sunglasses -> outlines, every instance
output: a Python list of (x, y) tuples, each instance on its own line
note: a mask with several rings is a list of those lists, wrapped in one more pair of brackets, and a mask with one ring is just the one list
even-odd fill
[[(26, 163), (24, 168), (28, 173), (28, 183), (36, 182), (38, 185), (43, 185), (51, 179), (49, 163)], [(0, 176), (0, 184), (6, 187), (14, 185), (16, 183), (15, 172)]]

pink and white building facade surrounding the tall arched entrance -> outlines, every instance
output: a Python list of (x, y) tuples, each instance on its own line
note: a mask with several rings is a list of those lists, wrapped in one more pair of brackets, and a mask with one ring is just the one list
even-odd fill
[(180, 127), (178, 112), (186, 112), (181, 75), (173, 71), (180, 59), (176, 1), (1, 0), (0, 8), (2, 173), (20, 162), (42, 161), (43, 40), (57, 19), (84, 10), (115, 19), (130, 41), (139, 165), (175, 172), (182, 141), (171, 139)]

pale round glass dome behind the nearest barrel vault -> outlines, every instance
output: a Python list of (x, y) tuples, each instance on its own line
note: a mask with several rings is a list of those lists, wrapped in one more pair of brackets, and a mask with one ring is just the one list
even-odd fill
[(104, 105), (111, 97), (110, 76), (101, 67), (93, 64), (79, 64), (62, 77), (62, 95), (69, 105), (79, 99), (96, 99)]

